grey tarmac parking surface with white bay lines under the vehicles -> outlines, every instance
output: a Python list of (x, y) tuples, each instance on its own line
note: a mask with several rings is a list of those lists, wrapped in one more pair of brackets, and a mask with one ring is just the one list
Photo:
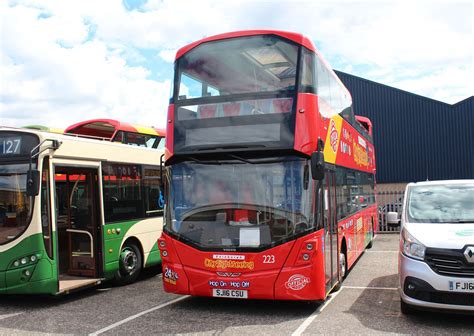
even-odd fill
[(324, 304), (177, 296), (161, 274), (63, 297), (0, 296), (0, 335), (466, 335), (473, 315), (400, 312), (398, 235), (379, 234)]

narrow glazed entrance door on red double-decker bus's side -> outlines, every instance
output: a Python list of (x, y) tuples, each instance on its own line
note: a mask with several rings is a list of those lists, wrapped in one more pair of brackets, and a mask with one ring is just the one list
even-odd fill
[(324, 268), (326, 292), (338, 281), (338, 248), (336, 218), (336, 174), (327, 170), (324, 178)]

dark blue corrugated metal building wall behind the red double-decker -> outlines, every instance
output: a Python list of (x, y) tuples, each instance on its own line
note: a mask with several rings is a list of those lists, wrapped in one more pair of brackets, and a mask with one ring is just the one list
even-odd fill
[(374, 125), (377, 182), (474, 178), (474, 97), (449, 105), (336, 73)]

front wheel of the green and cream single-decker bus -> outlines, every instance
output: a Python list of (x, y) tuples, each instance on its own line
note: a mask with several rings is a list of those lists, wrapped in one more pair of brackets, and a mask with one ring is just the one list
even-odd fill
[(140, 249), (133, 242), (127, 242), (122, 247), (119, 256), (119, 269), (115, 281), (119, 285), (127, 285), (137, 280), (142, 270), (143, 257)]

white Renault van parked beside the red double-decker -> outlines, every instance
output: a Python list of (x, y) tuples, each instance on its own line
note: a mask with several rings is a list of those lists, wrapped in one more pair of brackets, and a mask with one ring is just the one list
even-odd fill
[(474, 180), (408, 184), (400, 229), (402, 313), (474, 311)]

